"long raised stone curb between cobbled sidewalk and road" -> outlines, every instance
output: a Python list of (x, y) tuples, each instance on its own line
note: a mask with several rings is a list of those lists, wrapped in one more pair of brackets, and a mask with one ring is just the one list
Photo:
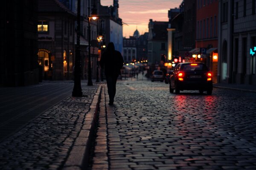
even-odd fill
[(96, 117), (99, 110), (102, 85), (99, 85), (93, 101), (90, 104), (90, 111), (86, 113), (82, 128), (77, 136), (72, 149), (64, 164), (63, 170), (82, 170), (87, 167), (89, 159), (90, 145), (92, 143), (93, 130), (96, 126)]

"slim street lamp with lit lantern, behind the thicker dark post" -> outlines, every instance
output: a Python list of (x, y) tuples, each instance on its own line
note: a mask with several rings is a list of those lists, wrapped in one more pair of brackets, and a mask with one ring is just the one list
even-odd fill
[(92, 81), (92, 68), (91, 68), (91, 61), (90, 61), (90, 19), (96, 20), (98, 17), (96, 16), (97, 10), (95, 8), (95, 4), (92, 9), (92, 14), (90, 14), (90, 0), (88, 0), (88, 83), (87, 85), (93, 85)]

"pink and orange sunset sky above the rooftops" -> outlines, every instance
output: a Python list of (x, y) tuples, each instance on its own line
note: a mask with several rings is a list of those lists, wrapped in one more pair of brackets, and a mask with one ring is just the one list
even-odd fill
[[(123, 21), (123, 37), (148, 32), (149, 19), (168, 21), (168, 10), (179, 7), (182, 0), (119, 0), (119, 17)], [(102, 6), (113, 6), (113, 0), (101, 0)], [(127, 26), (127, 25), (128, 26)]]

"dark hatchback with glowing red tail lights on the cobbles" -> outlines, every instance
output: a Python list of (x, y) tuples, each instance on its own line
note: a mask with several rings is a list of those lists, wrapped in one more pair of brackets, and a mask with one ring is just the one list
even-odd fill
[(179, 94), (183, 90), (207, 91), (212, 94), (212, 73), (204, 63), (179, 63), (169, 79), (170, 93)]

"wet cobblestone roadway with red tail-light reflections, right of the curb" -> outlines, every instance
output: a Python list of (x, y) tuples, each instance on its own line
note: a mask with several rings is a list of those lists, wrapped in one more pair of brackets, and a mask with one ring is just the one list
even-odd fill
[(119, 81), (106, 108), (102, 93), (93, 170), (256, 169), (256, 93)]

